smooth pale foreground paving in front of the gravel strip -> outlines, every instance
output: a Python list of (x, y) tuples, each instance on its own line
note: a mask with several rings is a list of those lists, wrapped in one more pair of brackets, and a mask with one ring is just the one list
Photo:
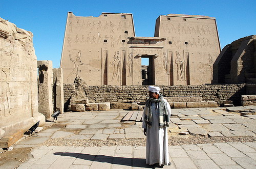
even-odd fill
[[(215, 143), (170, 146), (172, 165), (163, 168), (255, 168), (254, 143)], [(218, 146), (218, 147), (217, 147)], [(248, 149), (250, 148), (250, 149)], [(254, 149), (253, 149), (254, 150)], [(254, 150), (255, 151), (255, 150)], [(247, 154), (246, 154), (247, 153)], [(249, 154), (248, 154), (249, 153)], [(148, 168), (145, 147), (46, 147), (18, 168)], [(252, 157), (252, 158), (251, 158)]]

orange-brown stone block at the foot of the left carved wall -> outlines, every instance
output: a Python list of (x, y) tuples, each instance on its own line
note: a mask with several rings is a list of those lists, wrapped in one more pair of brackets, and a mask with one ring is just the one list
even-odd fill
[(9, 133), (0, 139), (0, 148), (8, 148), (23, 137), (23, 130), (16, 130), (15, 132)]

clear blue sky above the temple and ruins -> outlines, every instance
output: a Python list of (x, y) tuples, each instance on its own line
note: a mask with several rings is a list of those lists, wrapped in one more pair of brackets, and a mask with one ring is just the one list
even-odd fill
[(0, 17), (34, 34), (37, 60), (52, 60), (58, 68), (68, 11), (76, 16), (102, 12), (132, 13), (136, 36), (154, 37), (159, 15), (207, 15), (217, 20), (221, 47), (256, 34), (256, 0), (1, 0)]

